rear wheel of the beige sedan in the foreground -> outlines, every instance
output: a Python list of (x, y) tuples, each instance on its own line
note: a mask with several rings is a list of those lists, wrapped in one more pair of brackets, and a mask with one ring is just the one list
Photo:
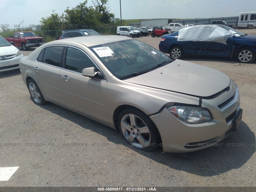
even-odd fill
[(32, 79), (28, 80), (27, 86), (28, 86), (28, 90), (32, 98), (32, 101), (35, 104), (38, 104), (38, 105), (46, 104), (46, 101), (44, 100), (44, 96), (42, 95), (40, 89), (38, 88), (38, 85), (36, 84), (36, 82), (34, 82), (34, 80)]

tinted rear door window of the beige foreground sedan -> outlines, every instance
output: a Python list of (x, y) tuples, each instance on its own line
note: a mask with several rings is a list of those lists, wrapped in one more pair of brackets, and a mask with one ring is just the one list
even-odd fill
[[(60, 67), (63, 49), (63, 46), (46, 47), (44, 50), (43, 62), (53, 66)], [(40, 54), (42, 54), (42, 52)]]

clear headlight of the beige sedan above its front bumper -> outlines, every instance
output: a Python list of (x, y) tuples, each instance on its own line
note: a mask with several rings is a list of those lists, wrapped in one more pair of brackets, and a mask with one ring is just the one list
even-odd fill
[(176, 118), (189, 124), (204, 123), (212, 120), (210, 112), (202, 107), (172, 106), (168, 110)]

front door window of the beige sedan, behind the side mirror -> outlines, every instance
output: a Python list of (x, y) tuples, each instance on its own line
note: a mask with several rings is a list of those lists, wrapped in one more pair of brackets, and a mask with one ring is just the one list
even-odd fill
[(78, 49), (68, 47), (65, 68), (68, 70), (82, 73), (82, 70), (88, 67), (96, 68), (92, 60), (90, 60), (90, 58), (86, 54)]

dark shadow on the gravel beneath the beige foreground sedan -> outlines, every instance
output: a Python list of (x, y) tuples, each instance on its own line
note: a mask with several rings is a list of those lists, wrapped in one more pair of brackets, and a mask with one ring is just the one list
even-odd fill
[(41, 107), (82, 126), (84, 129), (104, 135), (108, 141), (124, 145), (155, 162), (175, 170), (182, 170), (199, 176), (215, 176), (240, 168), (256, 151), (255, 134), (243, 121), (240, 122), (237, 132), (231, 133), (226, 139), (216, 144), (216, 146), (211, 146), (204, 150), (178, 154), (163, 152), (162, 148), (159, 147), (154, 152), (144, 152), (130, 146), (124, 141), (119, 131), (108, 126), (104, 126), (52, 103)]

